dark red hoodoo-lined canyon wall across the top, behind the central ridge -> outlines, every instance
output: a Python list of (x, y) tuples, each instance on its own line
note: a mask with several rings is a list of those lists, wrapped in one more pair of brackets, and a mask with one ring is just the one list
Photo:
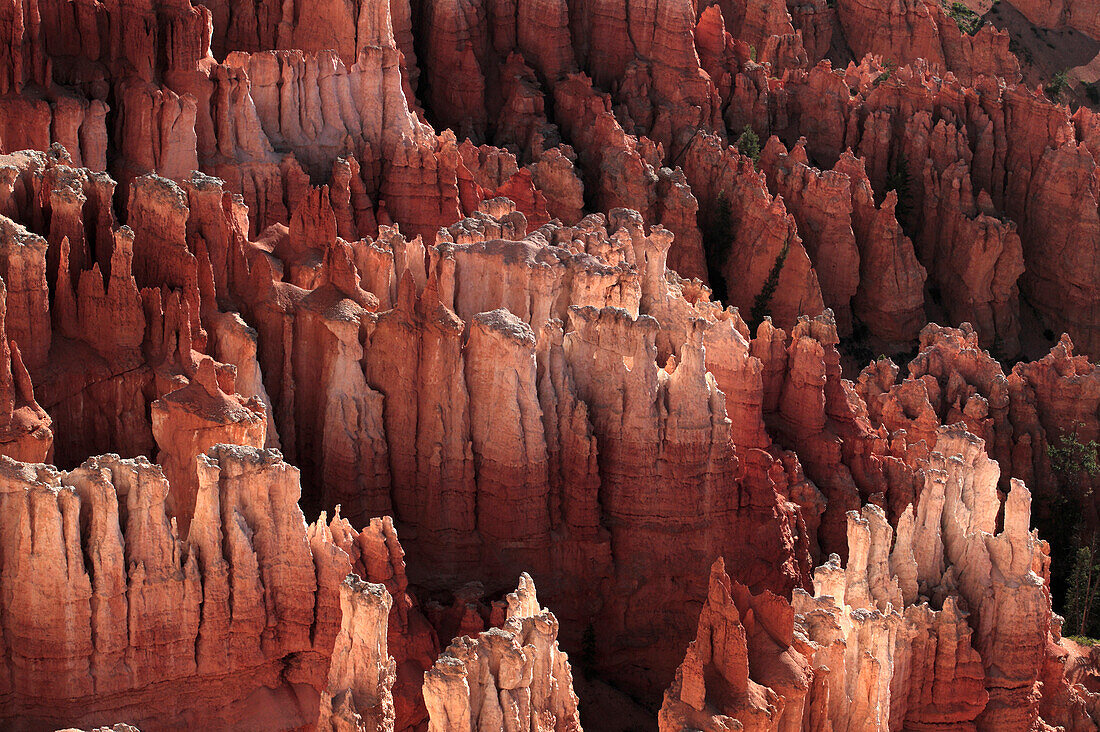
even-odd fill
[[(28, 0), (8, 11), (0, 144), (63, 144), (124, 192), (200, 170), (243, 197), (253, 237), (324, 181), (349, 241), (396, 221), (430, 244), (502, 195), (532, 227), (629, 207), (743, 310), (778, 263), (762, 304), (783, 327), (828, 306), (843, 336), (903, 351), (931, 315), (1011, 358), (1023, 293), (1097, 353), (1094, 113), (1021, 86), (1007, 34), (927, 0), (543, 4)], [(782, 143), (757, 162), (767, 183), (730, 145), (747, 124)]]

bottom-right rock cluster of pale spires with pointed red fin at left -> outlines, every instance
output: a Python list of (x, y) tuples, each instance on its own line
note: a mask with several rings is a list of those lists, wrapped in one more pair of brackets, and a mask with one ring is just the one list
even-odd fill
[(897, 532), (879, 506), (849, 512), (847, 565), (818, 567), (813, 596), (754, 596), (716, 562), (661, 730), (1091, 729), (1093, 696), (1045, 675), (1065, 651), (1026, 487), (998, 533), (997, 463), (961, 426), (924, 477)]

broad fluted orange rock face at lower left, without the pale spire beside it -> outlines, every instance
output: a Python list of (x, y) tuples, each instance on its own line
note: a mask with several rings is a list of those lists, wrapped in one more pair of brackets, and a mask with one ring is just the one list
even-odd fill
[(340, 623), (315, 626), (339, 594), (318, 576), (336, 558), (310, 551), (297, 471), (276, 454), (199, 461), (185, 542), (146, 460), (58, 472), (4, 458), (6, 724), (310, 720)]

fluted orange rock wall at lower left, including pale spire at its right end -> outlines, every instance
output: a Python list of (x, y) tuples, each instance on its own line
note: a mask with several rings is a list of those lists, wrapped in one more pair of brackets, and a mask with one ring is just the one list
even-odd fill
[(395, 714), (391, 691), (398, 662), (422, 675), (435, 656), (392, 524), (307, 531), (298, 471), (277, 452), (200, 456), (186, 535), (176, 487), (144, 459), (2, 460), (6, 726), (382, 732), (422, 718), (416, 699)]

